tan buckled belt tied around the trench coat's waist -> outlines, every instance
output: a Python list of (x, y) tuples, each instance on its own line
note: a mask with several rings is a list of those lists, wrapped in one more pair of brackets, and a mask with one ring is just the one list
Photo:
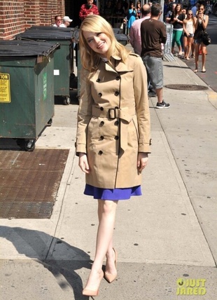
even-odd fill
[(120, 148), (125, 151), (127, 149), (127, 125), (132, 121), (136, 114), (135, 107), (123, 107), (122, 109), (103, 109), (92, 106), (92, 116), (108, 118), (114, 120), (120, 118)]

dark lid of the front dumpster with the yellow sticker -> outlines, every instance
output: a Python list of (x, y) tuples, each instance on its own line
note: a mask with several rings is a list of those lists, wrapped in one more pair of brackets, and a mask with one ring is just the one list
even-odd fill
[(38, 41), (0, 41), (0, 56), (48, 56), (59, 46)]

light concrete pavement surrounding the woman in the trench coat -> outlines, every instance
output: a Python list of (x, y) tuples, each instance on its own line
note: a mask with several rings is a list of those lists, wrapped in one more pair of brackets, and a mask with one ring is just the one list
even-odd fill
[[(205, 86), (178, 58), (164, 65), (165, 85)], [(153, 145), (143, 196), (118, 204), (118, 278), (102, 280), (99, 300), (217, 298), (217, 94), (165, 88), (164, 98), (169, 109), (155, 109), (156, 98), (150, 100)], [(83, 195), (74, 152), (77, 109), (55, 105), (52, 126), (36, 142), (70, 149), (52, 217), (0, 219), (2, 300), (88, 299), (81, 291), (94, 258), (97, 200)], [(187, 290), (179, 278), (200, 279), (202, 289)], [(204, 287), (206, 294), (196, 295)]]

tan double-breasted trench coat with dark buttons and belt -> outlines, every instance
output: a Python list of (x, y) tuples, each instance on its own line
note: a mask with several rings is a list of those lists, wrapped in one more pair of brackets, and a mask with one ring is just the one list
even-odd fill
[(87, 154), (86, 183), (104, 189), (141, 184), (138, 152), (150, 152), (147, 75), (139, 55), (116, 68), (100, 62), (88, 80), (82, 71), (76, 154)]

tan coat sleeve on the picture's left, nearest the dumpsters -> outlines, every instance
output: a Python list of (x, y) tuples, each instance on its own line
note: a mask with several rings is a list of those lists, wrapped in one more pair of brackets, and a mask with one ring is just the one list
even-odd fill
[(93, 99), (91, 95), (90, 81), (88, 80), (88, 71), (82, 69), (80, 73), (80, 102), (78, 107), (78, 125), (76, 135), (76, 155), (79, 152), (86, 153), (87, 125), (92, 117)]

